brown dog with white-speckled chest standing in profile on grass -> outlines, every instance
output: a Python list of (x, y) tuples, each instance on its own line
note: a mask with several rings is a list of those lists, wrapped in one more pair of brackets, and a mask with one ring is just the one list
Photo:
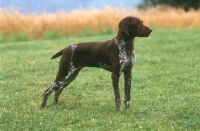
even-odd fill
[(134, 51), (135, 37), (148, 37), (152, 32), (143, 21), (134, 16), (123, 18), (118, 24), (117, 36), (105, 42), (85, 42), (70, 45), (51, 59), (61, 56), (55, 81), (45, 90), (41, 108), (46, 105), (50, 94), (55, 91), (54, 103), (63, 89), (72, 82), (84, 67), (99, 67), (112, 72), (112, 85), (117, 111), (122, 111), (119, 93), (119, 77), (124, 74), (125, 108), (130, 108), (132, 68), (136, 61)]

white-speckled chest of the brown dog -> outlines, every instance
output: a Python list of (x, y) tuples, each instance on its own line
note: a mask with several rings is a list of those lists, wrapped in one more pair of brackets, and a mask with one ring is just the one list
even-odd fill
[[(130, 49), (124, 40), (117, 42), (119, 48), (120, 74), (126, 69), (132, 69), (135, 61), (135, 51)], [(129, 44), (130, 45), (130, 44)]]

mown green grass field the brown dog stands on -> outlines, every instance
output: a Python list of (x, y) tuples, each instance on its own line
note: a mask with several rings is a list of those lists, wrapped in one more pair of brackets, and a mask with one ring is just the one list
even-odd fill
[[(0, 43), (0, 130), (200, 130), (200, 29), (154, 29), (136, 38), (131, 108), (117, 112), (111, 73), (83, 69), (59, 103), (51, 95), (59, 58), (49, 57), (72, 43), (105, 41), (116, 34)], [(123, 75), (120, 78), (123, 98)], [(124, 105), (123, 105), (124, 107)]]

